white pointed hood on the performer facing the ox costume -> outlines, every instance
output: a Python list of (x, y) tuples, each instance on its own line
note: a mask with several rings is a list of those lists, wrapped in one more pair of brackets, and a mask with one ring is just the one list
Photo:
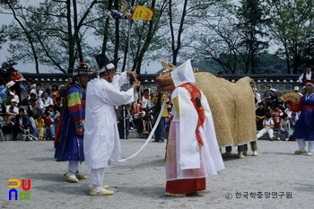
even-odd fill
[(190, 60), (188, 59), (187, 62), (173, 69), (171, 78), (176, 87), (183, 83), (196, 83)]

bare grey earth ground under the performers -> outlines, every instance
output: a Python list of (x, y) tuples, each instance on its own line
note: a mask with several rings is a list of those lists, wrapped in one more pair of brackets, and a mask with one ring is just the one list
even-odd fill
[[(122, 157), (142, 144), (144, 139), (122, 139)], [(225, 170), (207, 179), (207, 190), (198, 196), (166, 197), (165, 144), (150, 143), (130, 161), (109, 166), (105, 183), (113, 196), (89, 196), (89, 179), (65, 182), (67, 162), (54, 161), (51, 141), (4, 141), (0, 208), (313, 208), (314, 157), (293, 154), (296, 142), (257, 144), (259, 156), (243, 160), (233, 147), (234, 156), (224, 159)], [(81, 172), (89, 176), (84, 163)], [(9, 201), (8, 179), (31, 179), (31, 201)]]

